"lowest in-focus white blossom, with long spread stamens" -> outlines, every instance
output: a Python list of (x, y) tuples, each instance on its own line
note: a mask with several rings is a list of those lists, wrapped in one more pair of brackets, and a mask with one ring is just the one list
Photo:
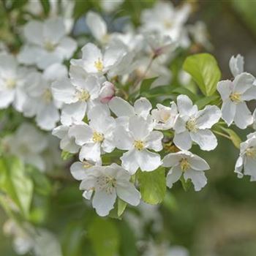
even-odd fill
[(132, 206), (138, 206), (140, 192), (129, 181), (130, 178), (127, 170), (115, 163), (108, 166), (94, 166), (86, 169), (86, 175), (80, 184), (80, 189), (86, 192), (94, 191), (92, 206), (97, 214), (103, 217), (107, 216), (110, 210), (114, 208), (116, 197)]

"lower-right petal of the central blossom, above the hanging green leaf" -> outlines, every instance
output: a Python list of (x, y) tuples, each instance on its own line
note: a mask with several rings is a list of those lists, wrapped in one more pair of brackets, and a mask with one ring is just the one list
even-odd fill
[(135, 159), (142, 171), (156, 170), (157, 167), (162, 164), (159, 154), (150, 152), (146, 149), (136, 151)]

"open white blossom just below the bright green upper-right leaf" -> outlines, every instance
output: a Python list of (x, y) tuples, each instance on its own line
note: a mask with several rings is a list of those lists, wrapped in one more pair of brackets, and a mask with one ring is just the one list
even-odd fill
[(217, 138), (211, 127), (219, 121), (222, 113), (215, 105), (207, 105), (199, 110), (186, 95), (177, 97), (178, 116), (173, 129), (173, 142), (178, 148), (189, 150), (192, 142), (202, 150), (210, 151), (217, 147)]

